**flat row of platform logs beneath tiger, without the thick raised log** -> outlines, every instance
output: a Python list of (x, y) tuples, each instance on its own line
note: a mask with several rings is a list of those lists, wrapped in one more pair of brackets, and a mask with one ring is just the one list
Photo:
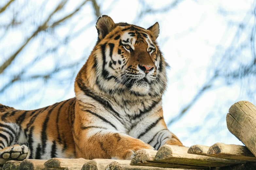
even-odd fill
[[(163, 145), (156, 150), (139, 150), (133, 159), (60, 159), (8, 161), (4, 170), (230, 170), (236, 166), (256, 167), (256, 157), (245, 146), (216, 143), (211, 147)], [(240, 168), (241, 169), (241, 168)]]

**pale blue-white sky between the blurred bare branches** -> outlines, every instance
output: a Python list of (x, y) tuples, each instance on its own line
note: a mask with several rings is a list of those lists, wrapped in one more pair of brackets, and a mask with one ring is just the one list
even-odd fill
[[(40, 2), (33, 1), (27, 6), (27, 8), (35, 8), (35, 13), (32, 15), (31, 20), (43, 21), (50, 12), (49, 9), (55, 6), (58, 1), (49, 1), (47, 7), (44, 8), (44, 13), (37, 14), (36, 11), (37, 8), (40, 8)], [(80, 2), (70, 1), (64, 10), (68, 13), (74, 10)], [(236, 27), (228, 29), (228, 24), (230, 21), (242, 21), (247, 11), (251, 8), (253, 1), (183, 0), (176, 8), (167, 13), (147, 15), (140, 21), (136, 17), (138, 11), (143, 7), (136, 0), (120, 0), (116, 1), (116, 3), (110, 0), (98, 2), (101, 6), (101, 13), (109, 15), (114, 22), (124, 21), (144, 28), (150, 27), (157, 21), (159, 22), (160, 35), (157, 41), (167, 63), (171, 66), (167, 71), (168, 88), (162, 98), (164, 120), (168, 122), (179, 113), (183, 106), (190, 102), (198, 89), (209, 78), (212, 65), (218, 60), (218, 54), (221, 54), (220, 51), (216, 52), (217, 46), (229, 47), (236, 32)], [(165, 7), (170, 2), (150, 0), (147, 1), (147, 5), (158, 8)], [(3, 75), (0, 75), (2, 80), (0, 85), (3, 86), (8, 82), (12, 73), (22, 70), (22, 65), (29, 63), (36, 56), (35, 54), (42, 52), (41, 47), (54, 45), (58, 43), (58, 38), (63, 37), (63, 35), (83, 30), (87, 24), (95, 22), (95, 16), (92, 15), (92, 11), (92, 6), (87, 5), (81, 9), (72, 21), (55, 29), (53, 34), (43, 34), (40, 37), (40, 40), (44, 40), (43, 43), (37, 39), (33, 40), (29, 44), (29, 48), (22, 52), (22, 55), (26, 55), (26, 57), (18, 57), (14, 61), (14, 66), (11, 66)], [(224, 16), (223, 13), (225, 11), (232, 11), (233, 13)], [(0, 20), (2, 22), (8, 21), (7, 16), (9, 15), (11, 13), (7, 13), (6, 16), (0, 16)], [(77, 24), (71, 30), (71, 25), (75, 23)], [(66, 64), (81, 60), (81, 63), (74, 70), (77, 73), (90, 55), (97, 38), (95, 23), (86, 28), (86, 31), (75, 37), (68, 45), (61, 47), (54, 55), (49, 55), (39, 64), (29, 68), (29, 72), (26, 75), (45, 73), (53, 69), (56, 62)], [(0, 64), (6, 60), (6, 56), (20, 46), (35, 27), (28, 22), (23, 29), (27, 31), (13, 29), (5, 33), (4, 39), (0, 41), (0, 53), (2, 53)], [(3, 34), (1, 31), (0, 33), (0, 35)], [(7, 92), (0, 94), (0, 103), (17, 109), (35, 109), (74, 97), (73, 85), (75, 76), (65, 71), (57, 76), (64, 78), (65, 81), (57, 84), (50, 80), (45, 86), (42, 85), (43, 80), (14, 85)], [(42, 87), (36, 94), (31, 95), (29, 100), (13, 102), (21, 93), (26, 93), (29, 89), (38, 86)], [(40, 99), (40, 102), (37, 102), (37, 99)], [(220, 86), (203, 94), (184, 117), (168, 126), (168, 128), (188, 147), (195, 144), (211, 146), (216, 142), (242, 145), (228, 131), (226, 125), (226, 114), (230, 106), (240, 100), (250, 101), (250, 98), (241, 89), (240, 83), (235, 83), (231, 86)]]

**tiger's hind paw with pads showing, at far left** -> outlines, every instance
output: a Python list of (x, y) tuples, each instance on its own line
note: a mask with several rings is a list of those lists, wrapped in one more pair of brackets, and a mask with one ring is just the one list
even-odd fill
[(3, 165), (10, 160), (22, 161), (30, 155), (30, 150), (26, 145), (13, 145), (0, 150), (0, 164)]

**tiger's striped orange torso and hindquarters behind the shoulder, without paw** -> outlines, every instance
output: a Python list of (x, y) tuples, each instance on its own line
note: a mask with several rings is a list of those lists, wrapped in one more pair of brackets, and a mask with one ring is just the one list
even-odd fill
[(25, 144), (32, 159), (75, 158), (75, 104), (72, 98), (29, 111), (0, 105), (0, 149)]

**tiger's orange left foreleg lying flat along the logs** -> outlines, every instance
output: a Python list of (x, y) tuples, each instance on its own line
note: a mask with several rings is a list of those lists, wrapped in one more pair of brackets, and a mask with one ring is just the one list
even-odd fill
[(137, 150), (154, 149), (140, 139), (95, 126), (84, 127), (80, 136), (83, 140), (75, 139), (77, 158), (131, 160)]

